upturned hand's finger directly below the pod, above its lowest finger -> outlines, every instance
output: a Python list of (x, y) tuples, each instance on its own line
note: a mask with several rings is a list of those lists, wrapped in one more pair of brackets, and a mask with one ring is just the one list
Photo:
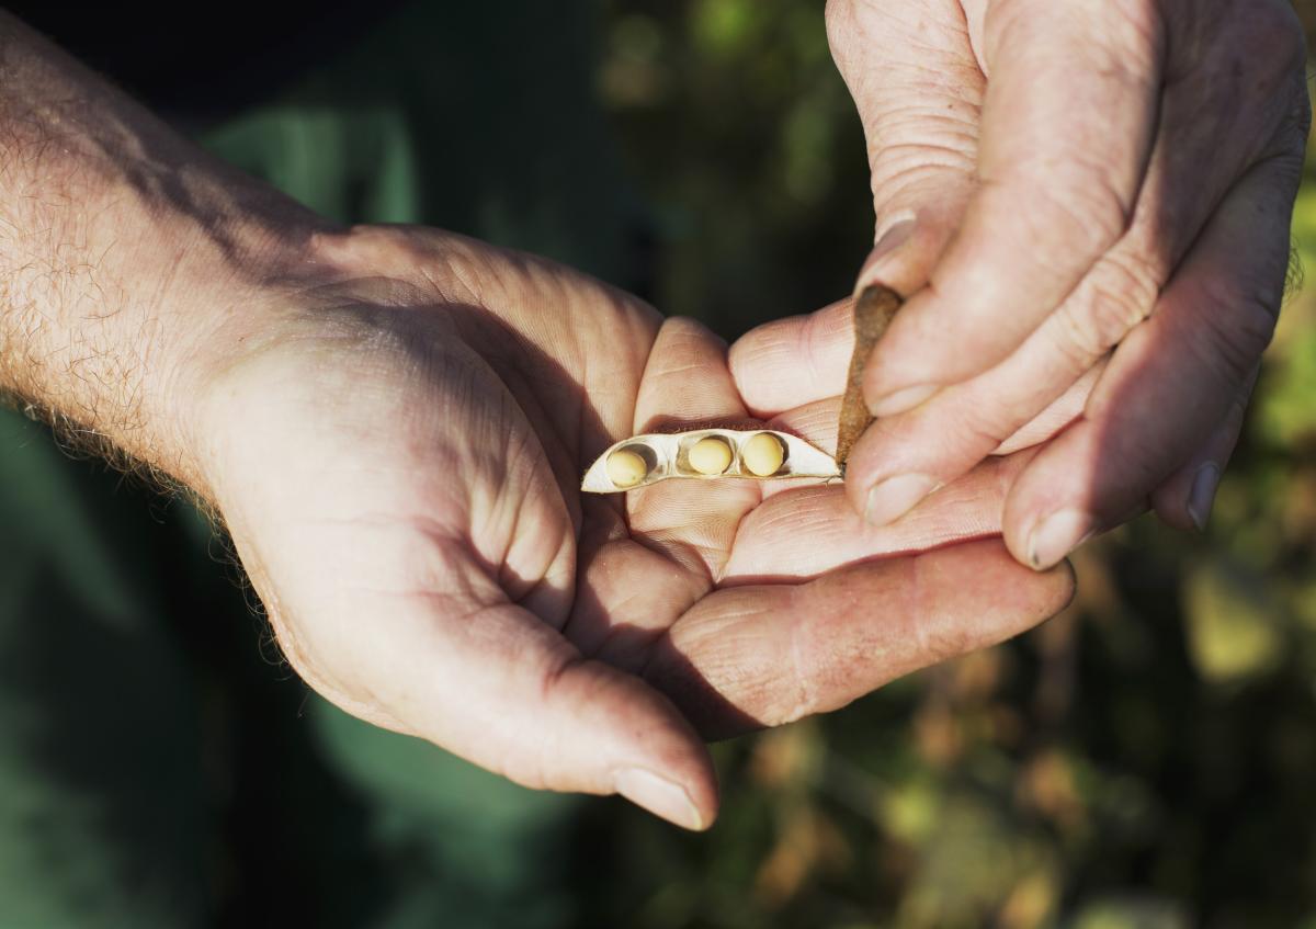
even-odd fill
[(998, 536), (1005, 495), (1033, 454), (983, 462), (886, 526), (865, 521), (837, 484), (775, 493), (741, 522), (719, 583), (816, 578), (879, 555)]

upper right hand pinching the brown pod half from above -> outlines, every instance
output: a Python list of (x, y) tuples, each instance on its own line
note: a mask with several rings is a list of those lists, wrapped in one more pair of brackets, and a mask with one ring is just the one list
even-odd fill
[(1028, 565), (1149, 504), (1202, 528), (1284, 287), (1290, 4), (830, 0), (828, 30), (873, 170), (859, 287), (917, 291), (869, 359), (854, 505), (888, 522), (1049, 438), (1003, 516)]

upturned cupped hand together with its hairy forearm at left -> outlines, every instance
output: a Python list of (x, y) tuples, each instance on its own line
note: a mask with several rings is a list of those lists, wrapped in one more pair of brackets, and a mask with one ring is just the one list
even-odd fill
[(837, 391), (796, 358), (733, 375), (697, 324), (538, 258), (340, 229), (4, 16), (0, 61), (0, 388), (211, 505), (293, 668), (361, 718), (703, 828), (705, 738), (1067, 601), (996, 538), (1026, 457), (887, 529), (836, 483), (583, 496), (612, 443), (750, 396), (830, 447)]

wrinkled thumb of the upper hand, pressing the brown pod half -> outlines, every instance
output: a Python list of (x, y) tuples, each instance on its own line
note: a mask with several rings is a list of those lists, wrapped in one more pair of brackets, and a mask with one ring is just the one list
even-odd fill
[(973, 191), (986, 80), (959, 5), (829, 0), (828, 39), (863, 124), (875, 246), (855, 292), (920, 289)]

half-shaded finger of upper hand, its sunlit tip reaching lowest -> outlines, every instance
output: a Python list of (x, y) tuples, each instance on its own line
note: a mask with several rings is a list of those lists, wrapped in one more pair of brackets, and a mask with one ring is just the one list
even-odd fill
[(1274, 330), (1288, 267), (1299, 157), (1249, 171), (1116, 350), (1084, 417), (1007, 500), (1005, 540), (1046, 567), (1107, 528), (1203, 447), (1244, 393)]

